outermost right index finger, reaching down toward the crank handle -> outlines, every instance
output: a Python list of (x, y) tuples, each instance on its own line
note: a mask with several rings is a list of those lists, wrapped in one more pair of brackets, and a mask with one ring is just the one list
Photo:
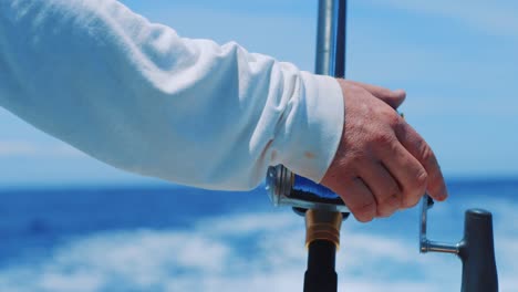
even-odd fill
[(396, 136), (403, 146), (423, 165), (427, 175), (427, 191), (436, 200), (445, 200), (448, 197), (443, 173), (437, 163), (432, 147), (421, 137), (421, 135), (408, 124), (403, 123), (396, 128)]

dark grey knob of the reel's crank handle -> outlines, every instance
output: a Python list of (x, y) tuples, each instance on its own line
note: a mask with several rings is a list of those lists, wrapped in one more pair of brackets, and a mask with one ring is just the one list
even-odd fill
[(463, 261), (462, 292), (498, 291), (490, 212), (481, 209), (466, 211), (459, 257)]

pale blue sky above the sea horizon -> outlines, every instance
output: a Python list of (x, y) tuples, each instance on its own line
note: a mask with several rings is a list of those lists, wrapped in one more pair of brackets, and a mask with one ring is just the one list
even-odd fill
[[(313, 69), (317, 1), (123, 1), (183, 36), (237, 41)], [(518, 2), (354, 0), (348, 76), (405, 88), (402, 111), (447, 177), (518, 176)], [(155, 182), (0, 108), (0, 186)]]

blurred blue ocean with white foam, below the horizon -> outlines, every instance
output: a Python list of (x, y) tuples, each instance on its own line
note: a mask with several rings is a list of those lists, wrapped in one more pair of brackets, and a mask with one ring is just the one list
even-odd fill
[[(494, 213), (500, 291), (518, 291), (518, 179), (452, 180), (428, 237)], [(186, 187), (0, 190), (0, 291), (302, 291), (303, 218), (249, 192)], [(418, 208), (343, 222), (340, 291), (459, 291), (460, 261), (418, 253)]]

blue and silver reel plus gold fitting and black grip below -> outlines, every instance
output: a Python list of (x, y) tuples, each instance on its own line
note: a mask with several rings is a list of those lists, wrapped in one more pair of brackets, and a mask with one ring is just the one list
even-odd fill
[(338, 290), (335, 253), (340, 247), (340, 228), (349, 217), (342, 199), (329, 188), (298, 176), (282, 165), (269, 167), (266, 179), (274, 206), (289, 206), (305, 218), (308, 269), (304, 292)]

